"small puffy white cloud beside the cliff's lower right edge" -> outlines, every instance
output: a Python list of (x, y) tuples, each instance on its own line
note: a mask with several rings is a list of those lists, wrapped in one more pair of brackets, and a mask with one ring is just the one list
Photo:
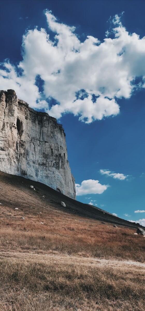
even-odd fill
[(107, 187), (109, 186), (102, 185), (98, 180), (94, 179), (83, 180), (81, 185), (78, 183), (75, 184), (76, 195), (101, 194), (107, 189)]

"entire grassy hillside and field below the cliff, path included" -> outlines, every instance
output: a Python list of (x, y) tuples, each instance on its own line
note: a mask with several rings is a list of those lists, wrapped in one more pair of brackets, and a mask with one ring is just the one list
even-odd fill
[(2, 172), (0, 203), (1, 311), (144, 311), (134, 224)]

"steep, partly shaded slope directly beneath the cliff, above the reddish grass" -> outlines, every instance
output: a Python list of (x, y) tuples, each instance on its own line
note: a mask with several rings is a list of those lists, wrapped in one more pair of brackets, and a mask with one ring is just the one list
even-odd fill
[[(30, 188), (30, 186), (35, 188)], [(61, 206), (61, 201), (66, 207)], [(6, 174), (0, 171), (0, 203), (3, 207), (25, 209), (31, 212), (33, 203), (37, 207), (51, 211), (61, 211), (71, 216), (81, 216), (104, 222), (122, 225), (130, 228), (140, 226), (127, 220), (116, 217), (100, 208), (73, 200), (56, 190), (20, 176)], [(140, 226), (142, 227), (142, 226)]]

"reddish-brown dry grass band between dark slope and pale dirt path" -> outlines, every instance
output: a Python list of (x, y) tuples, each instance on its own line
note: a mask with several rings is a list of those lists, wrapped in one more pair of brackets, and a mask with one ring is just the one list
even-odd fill
[(65, 213), (33, 208), (28, 213), (8, 211), (7, 208), (0, 220), (0, 249), (36, 253), (57, 251), (85, 257), (144, 262), (145, 239), (134, 235), (134, 232), (134, 229), (114, 228), (112, 224), (104, 225)]

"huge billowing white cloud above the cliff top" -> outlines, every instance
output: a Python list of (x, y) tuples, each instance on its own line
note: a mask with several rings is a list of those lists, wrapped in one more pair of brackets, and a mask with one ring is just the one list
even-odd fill
[[(70, 112), (91, 123), (117, 115), (117, 99), (145, 87), (145, 37), (128, 33), (119, 16), (113, 20), (111, 37), (107, 31), (103, 42), (93, 36), (81, 42), (75, 27), (58, 22), (51, 11), (45, 16), (48, 30), (35, 28), (23, 36), (19, 65), (2, 63), (1, 89), (14, 89), (31, 107), (44, 108), (56, 118)], [(44, 83), (41, 92), (35, 84), (38, 75)], [(141, 77), (138, 85), (136, 77)], [(56, 104), (50, 104), (52, 98)]]

